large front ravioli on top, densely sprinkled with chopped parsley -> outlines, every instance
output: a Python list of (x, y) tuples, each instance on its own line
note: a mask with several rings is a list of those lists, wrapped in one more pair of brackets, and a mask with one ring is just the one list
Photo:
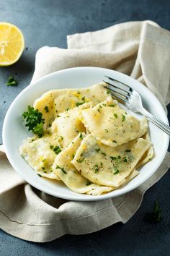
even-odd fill
[(92, 135), (87, 135), (71, 163), (91, 182), (119, 187), (150, 145), (148, 140), (138, 138), (117, 147), (109, 147)]

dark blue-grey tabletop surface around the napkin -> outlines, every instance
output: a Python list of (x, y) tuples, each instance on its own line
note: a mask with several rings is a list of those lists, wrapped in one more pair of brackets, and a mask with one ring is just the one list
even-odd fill
[[(45, 45), (66, 48), (68, 34), (130, 20), (153, 20), (170, 30), (169, 10), (170, 1), (160, 0), (0, 0), (0, 22), (17, 25), (28, 47), (16, 64), (0, 68), (0, 129), (13, 99), (30, 83), (38, 48)], [(10, 75), (19, 81), (17, 87), (5, 85)], [(166, 173), (146, 192), (140, 209), (125, 225), (117, 223), (94, 234), (66, 235), (43, 244), (25, 242), (0, 230), (0, 255), (169, 255), (169, 177)], [(158, 224), (144, 220), (155, 200), (162, 210), (163, 219)]]

